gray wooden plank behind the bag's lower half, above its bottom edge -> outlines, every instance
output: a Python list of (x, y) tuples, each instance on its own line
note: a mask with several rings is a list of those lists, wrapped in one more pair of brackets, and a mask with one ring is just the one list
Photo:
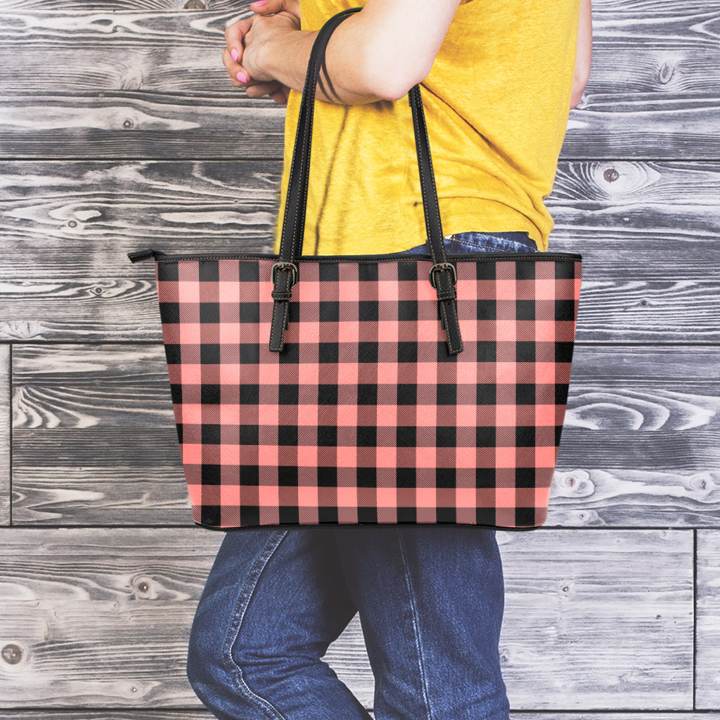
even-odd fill
[[(19, 345), (14, 522), (191, 523), (163, 348)], [(720, 518), (716, 347), (578, 346), (549, 526)]]

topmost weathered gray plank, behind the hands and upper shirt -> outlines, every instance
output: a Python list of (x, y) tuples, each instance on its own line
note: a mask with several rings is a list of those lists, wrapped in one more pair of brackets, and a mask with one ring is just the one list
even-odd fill
[[(220, 63), (225, 22), (247, 6), (14, 0), (0, 15), (0, 144), (14, 157), (279, 157), (284, 109), (240, 100)], [(696, 0), (593, 10), (593, 75), (564, 157), (718, 157), (720, 11)], [(53, 48), (52, 88), (37, 47)]]

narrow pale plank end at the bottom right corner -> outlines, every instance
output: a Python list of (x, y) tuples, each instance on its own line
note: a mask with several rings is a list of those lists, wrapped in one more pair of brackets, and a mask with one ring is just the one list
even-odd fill
[(720, 707), (720, 531), (698, 530), (696, 708)]

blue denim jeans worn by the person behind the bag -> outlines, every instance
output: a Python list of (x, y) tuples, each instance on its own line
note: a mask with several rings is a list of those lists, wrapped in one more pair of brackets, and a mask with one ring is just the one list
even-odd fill
[[(446, 246), (534, 251), (513, 235), (462, 233)], [(188, 678), (221, 720), (369, 720), (322, 660), (357, 613), (377, 720), (508, 720), (504, 605), (493, 528), (230, 531), (197, 607)]]

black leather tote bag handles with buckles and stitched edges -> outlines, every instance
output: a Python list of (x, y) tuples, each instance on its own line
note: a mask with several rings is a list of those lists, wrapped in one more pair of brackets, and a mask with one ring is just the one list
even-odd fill
[[(315, 109), (315, 86), (318, 84), (320, 68), (325, 58), (330, 35), (338, 25), (362, 8), (343, 10), (325, 22), (318, 32), (310, 51), (305, 86), (302, 90), (297, 133), (290, 165), (285, 214), (280, 237), (279, 260), (273, 266), (274, 298), (273, 319), (270, 333), (270, 349), (281, 351), (284, 332), (287, 328), (287, 304), (292, 297), (292, 286), (297, 282), (299, 271), (297, 258), (302, 255), (302, 240), (305, 233), (305, 211), (307, 208), (307, 187), (310, 181), (310, 150), (312, 148), (312, 117)], [(457, 321), (455, 281), (456, 271), (449, 263), (445, 252), (438, 194), (430, 155), (430, 143), (423, 111), (420, 86), (415, 85), (408, 93), (413, 113), (415, 146), (418, 153), (420, 188), (423, 194), (423, 213), (427, 231), (426, 245), (433, 259), (428, 282), (433, 284), (438, 295), (438, 304), (443, 328), (446, 332), (448, 350), (451, 354), (462, 351), (462, 338)]]

